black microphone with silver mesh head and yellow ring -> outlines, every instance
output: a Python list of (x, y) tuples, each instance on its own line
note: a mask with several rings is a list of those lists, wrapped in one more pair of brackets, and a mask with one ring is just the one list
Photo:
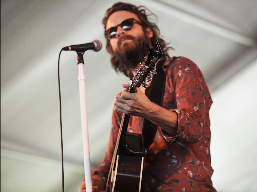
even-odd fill
[(93, 40), (91, 43), (85, 43), (80, 45), (71, 45), (67, 47), (63, 47), (63, 51), (87, 51), (87, 50), (93, 50), (93, 51), (100, 51), (102, 49), (102, 43), (100, 40)]

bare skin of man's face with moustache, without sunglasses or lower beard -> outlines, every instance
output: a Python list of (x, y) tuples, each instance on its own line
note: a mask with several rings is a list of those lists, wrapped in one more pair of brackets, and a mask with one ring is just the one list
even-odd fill
[[(122, 10), (122, 11), (114, 12), (108, 18), (105, 30), (110, 29), (111, 27), (117, 26), (121, 24), (124, 20), (129, 18), (134, 18), (140, 22), (140, 19), (138, 18), (138, 16), (129, 11)], [(152, 38), (152, 36), (153, 36), (152, 30), (150, 31), (149, 29), (146, 29), (146, 32), (144, 33), (143, 27), (137, 22), (134, 22), (133, 27), (128, 31), (125, 31), (120, 26), (118, 26), (116, 37), (110, 39), (110, 44), (114, 52), (125, 51), (125, 49), (129, 49), (129, 47), (131, 47), (131, 45), (134, 44), (133, 42), (136, 39), (138, 38), (150, 39)]]

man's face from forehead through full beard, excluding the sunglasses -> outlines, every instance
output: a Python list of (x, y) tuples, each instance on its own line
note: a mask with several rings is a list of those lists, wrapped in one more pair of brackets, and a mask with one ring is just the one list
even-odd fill
[[(106, 29), (120, 25), (124, 20), (134, 18), (141, 22), (138, 16), (129, 11), (117, 11), (110, 15), (106, 23)], [(116, 61), (120, 66), (132, 70), (138, 68), (139, 61), (147, 55), (148, 49), (142, 48), (141, 43), (148, 43), (150, 46), (150, 38), (153, 37), (152, 29), (143, 27), (135, 22), (130, 30), (123, 30), (121, 26), (117, 27), (116, 36), (110, 39), (112, 58), (114, 59), (112, 65), (116, 65)]]

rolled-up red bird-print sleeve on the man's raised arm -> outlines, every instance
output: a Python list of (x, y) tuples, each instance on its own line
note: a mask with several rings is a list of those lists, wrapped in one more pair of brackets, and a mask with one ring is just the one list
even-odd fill
[(174, 88), (177, 108), (170, 110), (178, 115), (178, 131), (175, 136), (163, 129), (161, 133), (168, 142), (198, 143), (205, 133), (207, 98), (210, 99), (203, 75), (195, 63), (184, 57), (169, 66), (167, 75), (167, 84)]

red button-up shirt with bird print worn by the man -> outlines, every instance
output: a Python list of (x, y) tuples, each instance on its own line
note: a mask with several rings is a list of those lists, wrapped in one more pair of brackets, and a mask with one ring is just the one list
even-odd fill
[[(178, 114), (177, 135), (158, 127), (144, 161), (144, 191), (216, 191), (212, 187), (209, 109), (212, 99), (203, 74), (185, 57), (163, 64), (166, 86), (162, 107)], [(122, 114), (113, 112), (108, 150), (92, 174), (107, 178)], [(143, 118), (131, 116), (127, 131), (141, 133)]]

